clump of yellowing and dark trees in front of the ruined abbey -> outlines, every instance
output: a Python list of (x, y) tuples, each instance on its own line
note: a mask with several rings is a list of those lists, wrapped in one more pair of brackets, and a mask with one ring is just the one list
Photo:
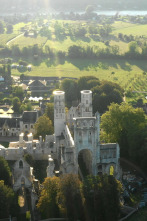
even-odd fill
[(113, 176), (88, 176), (81, 182), (75, 174), (46, 178), (37, 207), (42, 218), (116, 221), (120, 213), (122, 186)]

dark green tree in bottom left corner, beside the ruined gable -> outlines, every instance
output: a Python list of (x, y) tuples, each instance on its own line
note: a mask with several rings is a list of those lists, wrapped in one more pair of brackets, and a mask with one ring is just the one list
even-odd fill
[(11, 208), (14, 207), (15, 195), (11, 188), (0, 180), (0, 218), (8, 218)]

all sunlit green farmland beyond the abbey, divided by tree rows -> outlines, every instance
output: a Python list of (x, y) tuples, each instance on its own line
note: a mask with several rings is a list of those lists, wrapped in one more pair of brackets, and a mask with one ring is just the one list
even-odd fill
[[(47, 24), (47, 20), (44, 21)], [(147, 64), (146, 60), (142, 59), (131, 59), (131, 58), (59, 58), (56, 53), (62, 51), (65, 55), (68, 53), (69, 47), (76, 45), (79, 47), (91, 47), (106, 49), (106, 41), (109, 46), (117, 46), (119, 54), (123, 55), (128, 51), (129, 42), (123, 39), (119, 39), (118, 35), (143, 36), (144, 40), (147, 37), (146, 29), (147, 25), (133, 24), (124, 21), (115, 21), (112, 24), (112, 32), (107, 37), (100, 39), (99, 34), (90, 34), (90, 26), (96, 25), (94, 22), (91, 24), (85, 21), (63, 21), (63, 20), (51, 20), (47, 25), (47, 29), (50, 30), (50, 37), (40, 34), (40, 27), (37, 27), (38, 34), (33, 36), (20, 35), (22, 28), (30, 27), (32, 29), (33, 23), (18, 23), (14, 26), (14, 32), (12, 34), (1, 34), (1, 43), (6, 44), (9, 40), (9, 48), (13, 45), (18, 45), (20, 50), (24, 47), (38, 45), (43, 51), (46, 47), (51, 48), (55, 52), (54, 58), (38, 58), (35, 60), (32, 56), (22, 57), (21, 59), (32, 65), (32, 71), (29, 72), (26, 69), (17, 70), (12, 69), (13, 75), (31, 75), (31, 76), (69, 76), (69, 77), (81, 77), (84, 75), (94, 75), (100, 80), (110, 80), (120, 84), (125, 90), (130, 91), (147, 91)], [(35, 24), (36, 25), (36, 24)], [(58, 35), (55, 26), (60, 26), (64, 30), (64, 34)], [(36, 27), (36, 26), (35, 26)], [(73, 30), (83, 27), (86, 30), (84, 37), (71, 35)], [(97, 26), (101, 28), (102, 26)], [(73, 29), (74, 28), (74, 29)], [(16, 34), (18, 33), (18, 34)], [(141, 49), (139, 48), (139, 51)], [(13, 62), (17, 63), (19, 58), (13, 57)], [(143, 74), (144, 73), (144, 74)], [(132, 96), (142, 97), (141, 94), (133, 94)]]

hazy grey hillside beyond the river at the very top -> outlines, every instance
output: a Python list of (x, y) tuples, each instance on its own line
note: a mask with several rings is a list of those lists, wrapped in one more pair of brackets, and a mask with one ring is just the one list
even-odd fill
[[(35, 2), (35, 4), (34, 4)], [(95, 5), (97, 10), (147, 10), (147, 0), (0, 0), (0, 11), (13, 8), (54, 8), (55, 10), (84, 10)]]

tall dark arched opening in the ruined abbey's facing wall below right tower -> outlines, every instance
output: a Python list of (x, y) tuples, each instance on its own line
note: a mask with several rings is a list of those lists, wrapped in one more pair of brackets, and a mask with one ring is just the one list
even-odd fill
[(92, 153), (90, 150), (81, 150), (78, 154), (78, 165), (84, 176), (92, 174)]

